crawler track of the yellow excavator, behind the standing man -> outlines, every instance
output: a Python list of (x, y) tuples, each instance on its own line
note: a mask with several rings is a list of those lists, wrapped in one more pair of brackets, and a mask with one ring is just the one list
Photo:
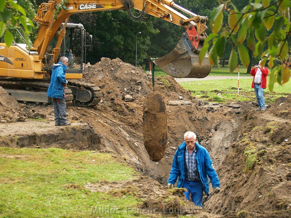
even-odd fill
[[(17, 101), (36, 104), (42, 103), (44, 105), (51, 103), (51, 99), (46, 96), (49, 81), (35, 82), (29, 80), (11, 80), (8, 78), (1, 78), (0, 86), (2, 86), (8, 94), (14, 97)], [(74, 106), (93, 107), (97, 105), (103, 97), (100, 88), (95, 84), (69, 81), (67, 88), (71, 90), (71, 92), (66, 91), (66, 94), (70, 94), (69, 96), (66, 96), (66, 100), (72, 100), (72, 105)]]

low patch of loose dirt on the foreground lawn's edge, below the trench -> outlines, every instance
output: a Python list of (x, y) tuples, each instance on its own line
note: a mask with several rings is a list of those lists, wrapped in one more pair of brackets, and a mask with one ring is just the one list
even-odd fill
[[(68, 188), (75, 188), (72, 184)], [(120, 198), (131, 195), (136, 197), (141, 203), (137, 208), (127, 207), (127, 212), (138, 215), (158, 215), (175, 217), (178, 215), (188, 215), (203, 218), (217, 218), (219, 215), (204, 212), (202, 208), (196, 207), (193, 203), (184, 198), (184, 189), (168, 189), (150, 177), (142, 176), (129, 181), (100, 181), (99, 183), (86, 183), (85, 188), (91, 192), (105, 192), (111, 197)], [(107, 208), (92, 208), (94, 212), (106, 210)], [(120, 210), (120, 208), (115, 208)], [(97, 215), (97, 214), (96, 214)]]

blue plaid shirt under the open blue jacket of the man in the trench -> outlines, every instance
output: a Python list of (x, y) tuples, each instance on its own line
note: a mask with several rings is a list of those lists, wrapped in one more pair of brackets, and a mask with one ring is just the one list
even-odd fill
[(184, 153), (185, 153), (185, 163), (186, 163), (185, 179), (188, 181), (200, 180), (199, 172), (197, 169), (196, 147), (194, 147), (194, 151), (190, 155), (189, 150), (187, 149), (187, 146), (186, 146)]

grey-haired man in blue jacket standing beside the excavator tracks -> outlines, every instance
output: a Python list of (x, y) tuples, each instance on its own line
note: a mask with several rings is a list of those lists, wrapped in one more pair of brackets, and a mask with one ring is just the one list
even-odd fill
[(54, 104), (55, 126), (69, 126), (66, 120), (67, 106), (65, 100), (65, 87), (68, 81), (65, 78), (68, 58), (61, 57), (57, 64), (54, 64), (51, 76), (51, 83), (47, 90), (47, 96), (52, 98)]

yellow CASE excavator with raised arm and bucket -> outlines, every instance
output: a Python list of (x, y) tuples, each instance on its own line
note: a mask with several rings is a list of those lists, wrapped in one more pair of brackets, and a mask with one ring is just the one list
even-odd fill
[[(62, 9), (56, 12), (56, 8)], [(175, 9), (188, 14), (189, 18)], [(198, 61), (199, 51), (207, 37), (207, 17), (196, 15), (172, 0), (53, 0), (42, 3), (33, 19), (39, 29), (30, 50), (26, 44), (14, 43), (8, 48), (5, 43), (0, 43), (0, 86), (18, 101), (50, 103), (46, 90), (52, 65), (60, 56), (67, 56), (69, 69), (66, 78), (81, 79), (86, 60), (83, 49), (86, 51), (92, 42), (92, 36), (86, 34), (84, 27), (69, 24), (68, 18), (77, 13), (106, 10), (126, 10), (134, 21), (152, 15), (183, 26), (186, 31), (175, 49), (162, 58), (155, 58), (155, 64), (176, 78), (203, 78), (209, 74), (208, 54), (201, 65)], [(102, 97), (100, 88), (94, 84), (69, 81), (68, 88), (72, 91), (74, 105), (94, 106)]]

